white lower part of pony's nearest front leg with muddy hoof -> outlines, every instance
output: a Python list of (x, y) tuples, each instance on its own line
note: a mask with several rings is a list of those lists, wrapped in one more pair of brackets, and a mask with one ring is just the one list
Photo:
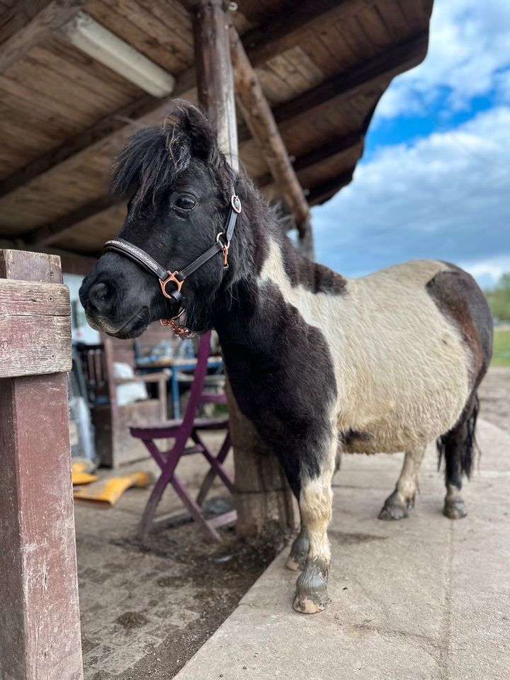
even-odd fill
[(335, 455), (336, 443), (329, 446), (327, 455), (318, 461), (319, 470), (316, 474), (308, 474), (305, 468), (301, 477), (300, 536), (302, 543), (308, 541), (308, 553), (305, 567), (297, 578), (293, 606), (295, 611), (305, 614), (323, 611), (328, 601), (330, 553), (327, 526), (331, 520), (331, 477), (334, 473)]

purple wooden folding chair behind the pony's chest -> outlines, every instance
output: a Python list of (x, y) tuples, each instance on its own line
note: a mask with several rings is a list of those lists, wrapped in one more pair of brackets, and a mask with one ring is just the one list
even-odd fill
[[(200, 339), (196, 369), (193, 373), (191, 393), (183, 419), (169, 420), (162, 423), (131, 427), (133, 437), (140, 438), (152, 458), (161, 467), (162, 474), (152, 489), (147, 506), (140, 522), (138, 531), (139, 538), (145, 540), (147, 533), (154, 522), (154, 514), (157, 505), (163, 495), (166, 485), (171, 484), (179, 495), (179, 498), (188, 509), (191, 517), (198, 523), (205, 535), (212, 540), (221, 540), (216, 529), (237, 519), (235, 511), (229, 511), (212, 519), (206, 519), (203, 512), (203, 503), (216, 475), (220, 477), (225, 486), (232, 492), (234, 482), (222, 467), (230, 448), (230, 436), (228, 431), (228, 416), (218, 418), (197, 418), (198, 406), (204, 403), (225, 404), (225, 394), (206, 394), (203, 392), (205, 375), (208, 370), (208, 356), (210, 353), (210, 332)], [(205, 444), (199, 431), (226, 430), (225, 440), (217, 455), (213, 455), (210, 448)], [(174, 439), (174, 446), (169, 450), (161, 450), (156, 445), (156, 439)], [(186, 446), (188, 439), (193, 441), (193, 446)], [(177, 463), (182, 455), (202, 453), (210, 464), (210, 470), (203, 480), (198, 496), (195, 499), (188, 493), (179, 477), (176, 475)]]

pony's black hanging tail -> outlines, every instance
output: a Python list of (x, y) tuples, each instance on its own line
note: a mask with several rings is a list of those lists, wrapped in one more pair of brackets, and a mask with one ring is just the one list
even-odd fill
[(438, 470), (441, 468), (441, 461), (444, 459), (447, 477), (450, 476), (449, 471), (455, 470), (459, 462), (461, 472), (467, 479), (471, 476), (475, 450), (480, 456), (480, 448), (476, 441), (476, 423), (479, 411), (480, 400), (475, 392), (455, 426), (446, 434), (441, 435), (436, 442)]

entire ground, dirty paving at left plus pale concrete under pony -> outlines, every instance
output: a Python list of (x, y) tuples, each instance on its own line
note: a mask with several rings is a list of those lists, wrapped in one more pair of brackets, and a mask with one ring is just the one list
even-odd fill
[[(480, 390), (490, 423), (480, 422), (482, 458), (465, 485), (466, 519), (441, 515), (433, 448), (414, 514), (390, 524), (377, 514), (402, 456), (345, 456), (334, 480), (329, 609), (292, 611), (295, 574), (281, 555), (179, 680), (510, 679), (509, 392), (510, 370), (491, 369)], [(198, 456), (179, 465), (198, 489), (207, 465)], [(131, 468), (156, 470), (151, 461)], [(232, 557), (229, 546), (207, 555), (193, 525), (167, 532), (153, 553), (132, 545), (148, 493), (130, 489), (112, 509), (76, 504), (85, 680), (171, 679), (254, 581), (246, 557)], [(215, 493), (225, 489), (218, 483)], [(181, 508), (166, 492), (161, 511)], [(213, 565), (206, 577), (204, 555)]]

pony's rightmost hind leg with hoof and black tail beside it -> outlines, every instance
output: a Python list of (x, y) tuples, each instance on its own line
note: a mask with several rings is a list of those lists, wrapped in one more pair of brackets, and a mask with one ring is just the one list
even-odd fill
[(446, 463), (446, 497), (443, 514), (449, 519), (461, 519), (467, 515), (460, 496), (463, 473), (469, 478), (472, 466), (472, 450), (475, 446), (475, 426), (478, 414), (478, 397), (470, 397), (458, 423), (438, 440), (439, 460)]

